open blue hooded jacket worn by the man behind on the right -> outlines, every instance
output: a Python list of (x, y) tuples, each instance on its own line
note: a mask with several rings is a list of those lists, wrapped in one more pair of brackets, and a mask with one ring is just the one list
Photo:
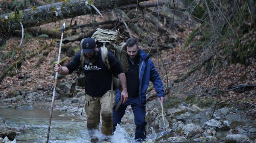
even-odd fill
[[(140, 54), (140, 66), (139, 66), (139, 100), (141, 105), (146, 104), (146, 90), (149, 85), (149, 80), (153, 83), (155, 91), (158, 97), (164, 97), (165, 92), (163, 90), (162, 80), (151, 61), (149, 55), (147, 55), (142, 49), (139, 49)], [(119, 91), (117, 91), (116, 104), (119, 101)], [(129, 96), (129, 95), (128, 95)]]

